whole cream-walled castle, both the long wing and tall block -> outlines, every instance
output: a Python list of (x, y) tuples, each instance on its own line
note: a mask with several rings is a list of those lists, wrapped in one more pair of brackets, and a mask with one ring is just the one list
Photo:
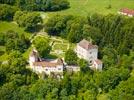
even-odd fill
[[(102, 70), (102, 61), (98, 59), (98, 46), (93, 45), (87, 40), (83, 39), (77, 43), (75, 52), (79, 58), (83, 58), (89, 63), (89, 67), (95, 70)], [(63, 78), (64, 63), (62, 59), (42, 59), (39, 57), (37, 50), (32, 50), (29, 55), (30, 68), (38, 73), (51, 74), (56, 77)], [(79, 66), (65, 66), (67, 70), (73, 72), (80, 71)]]

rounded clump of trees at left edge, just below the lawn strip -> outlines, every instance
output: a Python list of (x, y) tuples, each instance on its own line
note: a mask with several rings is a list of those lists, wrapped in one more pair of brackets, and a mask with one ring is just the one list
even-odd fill
[(25, 52), (30, 46), (30, 41), (24, 34), (9, 30), (5, 33), (0, 33), (0, 45), (5, 46), (6, 52), (10, 53), (12, 50)]

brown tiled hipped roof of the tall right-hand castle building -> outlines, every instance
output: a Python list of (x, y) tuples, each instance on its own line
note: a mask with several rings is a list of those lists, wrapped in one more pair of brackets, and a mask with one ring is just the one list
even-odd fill
[(82, 41), (80, 41), (78, 43), (78, 45), (86, 50), (89, 50), (89, 49), (94, 49), (94, 48), (98, 48), (97, 45), (93, 45), (92, 43), (90, 43), (89, 41), (83, 39)]

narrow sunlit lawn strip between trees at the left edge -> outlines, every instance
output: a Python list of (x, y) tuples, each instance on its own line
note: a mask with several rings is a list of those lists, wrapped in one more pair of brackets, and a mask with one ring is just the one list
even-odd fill
[(7, 32), (9, 30), (13, 30), (19, 34), (25, 33), (27, 37), (31, 36), (30, 33), (25, 32), (23, 28), (18, 27), (18, 25), (14, 22), (0, 21), (0, 32)]

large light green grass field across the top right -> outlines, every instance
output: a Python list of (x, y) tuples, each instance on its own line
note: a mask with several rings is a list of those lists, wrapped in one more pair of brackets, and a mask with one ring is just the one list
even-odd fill
[[(73, 14), (78, 16), (85, 16), (88, 13), (100, 14), (117, 14), (121, 8), (134, 9), (134, 0), (68, 0), (70, 8), (58, 12), (48, 12), (46, 15), (53, 14)], [(111, 8), (107, 9), (111, 4)]]

